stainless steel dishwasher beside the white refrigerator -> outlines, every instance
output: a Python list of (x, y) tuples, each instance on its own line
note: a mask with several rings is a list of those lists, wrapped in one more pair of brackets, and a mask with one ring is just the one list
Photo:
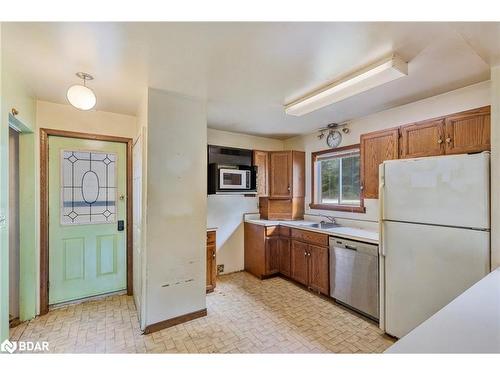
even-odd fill
[(379, 318), (378, 246), (330, 237), (330, 296)]

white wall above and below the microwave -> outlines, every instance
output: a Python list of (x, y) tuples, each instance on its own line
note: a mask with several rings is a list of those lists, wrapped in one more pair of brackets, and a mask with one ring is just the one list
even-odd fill
[[(208, 144), (251, 150), (283, 150), (283, 141), (208, 129)], [(242, 195), (209, 195), (207, 227), (217, 227), (217, 264), (224, 264), (224, 273), (244, 267), (243, 214), (258, 212), (258, 198)]]

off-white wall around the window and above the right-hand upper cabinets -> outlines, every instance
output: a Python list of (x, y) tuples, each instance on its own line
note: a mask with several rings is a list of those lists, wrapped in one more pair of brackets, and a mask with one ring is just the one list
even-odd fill
[[(482, 107), (490, 103), (490, 82), (481, 82), (445, 94), (355, 119), (351, 121), (349, 125), (350, 133), (343, 135), (341, 146), (359, 143), (359, 137), (363, 133)], [(327, 148), (325, 140), (319, 140), (317, 135), (318, 133), (314, 132), (290, 138), (285, 141), (284, 145), (286, 149), (306, 151), (306, 212), (323, 212), (329, 215), (333, 214), (336, 217), (377, 221), (378, 199), (365, 200), (365, 214), (311, 210), (308, 208), (309, 203), (311, 203), (311, 152)]]

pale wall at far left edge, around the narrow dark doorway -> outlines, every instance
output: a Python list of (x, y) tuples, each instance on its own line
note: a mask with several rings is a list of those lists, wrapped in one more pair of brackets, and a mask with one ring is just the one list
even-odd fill
[[(6, 44), (6, 35), (2, 36), (2, 43)], [(1, 53), (1, 130), (0, 130), (0, 160), (7, 163), (7, 146), (3, 136), (8, 136), (9, 113), (12, 108), (18, 111), (17, 120), (21, 123), (21, 134), (19, 135), (19, 318), (21, 320), (31, 319), (36, 314), (36, 296), (39, 290), (36, 284), (38, 264), (36, 263), (36, 249), (38, 246), (37, 223), (38, 223), (38, 201), (35, 201), (38, 191), (36, 189), (38, 180), (35, 179), (38, 170), (35, 168), (35, 99), (23, 76), (17, 72), (17, 65), (12, 61), (6, 50)], [(8, 168), (2, 164), (0, 182), (8, 184)], [(5, 178), (5, 179), (4, 179)], [(2, 188), (3, 189), (3, 188)], [(0, 189), (0, 190), (2, 190)], [(6, 190), (8, 191), (8, 190)], [(4, 192), (0, 196), (0, 211), (4, 211)], [(8, 211), (7, 211), (8, 212)], [(0, 212), (5, 213), (5, 212)], [(0, 235), (1, 237), (1, 235)], [(2, 242), (0, 248), (8, 249), (8, 244)], [(0, 251), (1, 252), (1, 251)], [(7, 265), (6, 259), (0, 263)], [(1, 271), (0, 271), (1, 272)], [(1, 282), (1, 281), (0, 281)], [(1, 294), (1, 291), (0, 291)], [(0, 312), (1, 315), (1, 312)], [(5, 318), (8, 327), (8, 315)], [(2, 321), (3, 322), (3, 321)]]

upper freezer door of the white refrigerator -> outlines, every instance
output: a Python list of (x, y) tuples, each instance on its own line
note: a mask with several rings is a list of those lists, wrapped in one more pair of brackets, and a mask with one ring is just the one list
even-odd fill
[(489, 229), (489, 155), (384, 162), (383, 218)]

